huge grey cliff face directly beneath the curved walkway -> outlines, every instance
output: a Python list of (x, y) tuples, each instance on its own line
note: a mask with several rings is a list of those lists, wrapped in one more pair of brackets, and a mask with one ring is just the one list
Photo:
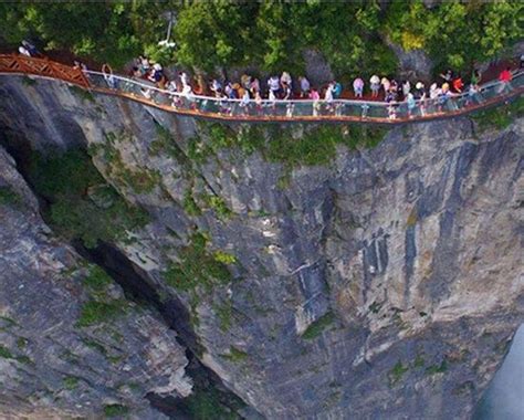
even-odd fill
[(116, 246), (184, 304), (179, 333), (260, 413), (472, 412), (524, 315), (522, 119), (417, 124), (373, 149), (337, 146), (326, 165), (283, 165), (268, 133), (302, 141), (312, 128), (256, 128), (261, 140), (56, 82), (1, 82), (10, 147), (19, 134), (40, 150), (86, 145), (151, 214)]

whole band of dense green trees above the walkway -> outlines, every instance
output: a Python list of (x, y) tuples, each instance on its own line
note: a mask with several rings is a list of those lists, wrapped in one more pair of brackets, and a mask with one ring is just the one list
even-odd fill
[[(428, 2), (429, 3), (429, 2)], [(0, 34), (45, 49), (122, 65), (142, 52), (163, 61), (216, 71), (255, 64), (268, 71), (304, 70), (303, 51), (321, 51), (338, 77), (363, 69), (391, 73), (392, 40), (406, 50), (425, 49), (439, 67), (464, 69), (522, 38), (522, 1), (305, 2), (111, 1), (1, 3)], [(175, 15), (174, 50), (165, 39)]]

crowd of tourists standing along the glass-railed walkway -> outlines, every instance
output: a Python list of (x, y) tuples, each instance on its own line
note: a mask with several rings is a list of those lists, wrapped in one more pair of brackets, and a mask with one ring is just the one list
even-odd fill
[[(114, 78), (112, 81), (111, 67), (105, 64), (103, 72), (107, 75), (108, 83), (115, 83)], [(235, 82), (220, 78), (206, 82), (203, 76), (191, 78), (184, 71), (178, 72), (175, 77), (168, 78), (161, 64), (154, 63), (146, 56), (135, 60), (129, 76), (138, 81), (147, 81), (160, 90), (178, 93), (178, 95), (172, 95), (171, 105), (174, 107), (196, 107), (196, 97), (206, 96), (217, 98), (221, 106), (220, 112), (223, 113), (231, 112), (232, 102), (228, 99), (238, 99), (237, 105), (243, 108), (245, 114), (262, 112), (263, 107), (275, 107), (277, 103), (289, 102), (286, 113), (290, 116), (293, 114), (295, 104), (291, 99), (311, 99), (313, 101), (313, 115), (318, 115), (321, 109), (338, 114), (343, 103), (336, 99), (356, 98), (384, 101), (388, 104), (389, 118), (396, 118), (401, 104), (405, 104), (408, 116), (412, 117), (415, 113), (423, 116), (426, 106), (429, 104), (438, 112), (453, 109), (455, 105), (450, 99), (460, 94), (467, 94), (463, 104), (465, 106), (480, 103), (482, 99), (480, 87), (482, 75), (479, 70), (472, 72), (468, 85), (462, 75), (452, 70), (441, 73), (439, 82), (431, 83), (429, 86), (422, 81), (412, 83), (409, 80), (404, 80), (398, 82), (395, 78), (379, 77), (374, 74), (367, 83), (363, 77), (356, 77), (353, 81), (352, 93), (343, 91), (338, 81), (331, 81), (317, 87), (310, 83), (304, 75), (297, 77), (296, 81), (293, 80), (289, 72), (283, 72), (280, 76), (272, 75), (264, 81), (265, 83), (249, 74), (242, 74)], [(511, 90), (511, 69), (502, 71), (499, 80), (503, 82), (501, 93), (502, 90)], [(142, 94), (151, 98), (155, 91), (143, 87)], [(363, 105), (363, 116), (366, 116), (368, 107), (368, 105)]]

